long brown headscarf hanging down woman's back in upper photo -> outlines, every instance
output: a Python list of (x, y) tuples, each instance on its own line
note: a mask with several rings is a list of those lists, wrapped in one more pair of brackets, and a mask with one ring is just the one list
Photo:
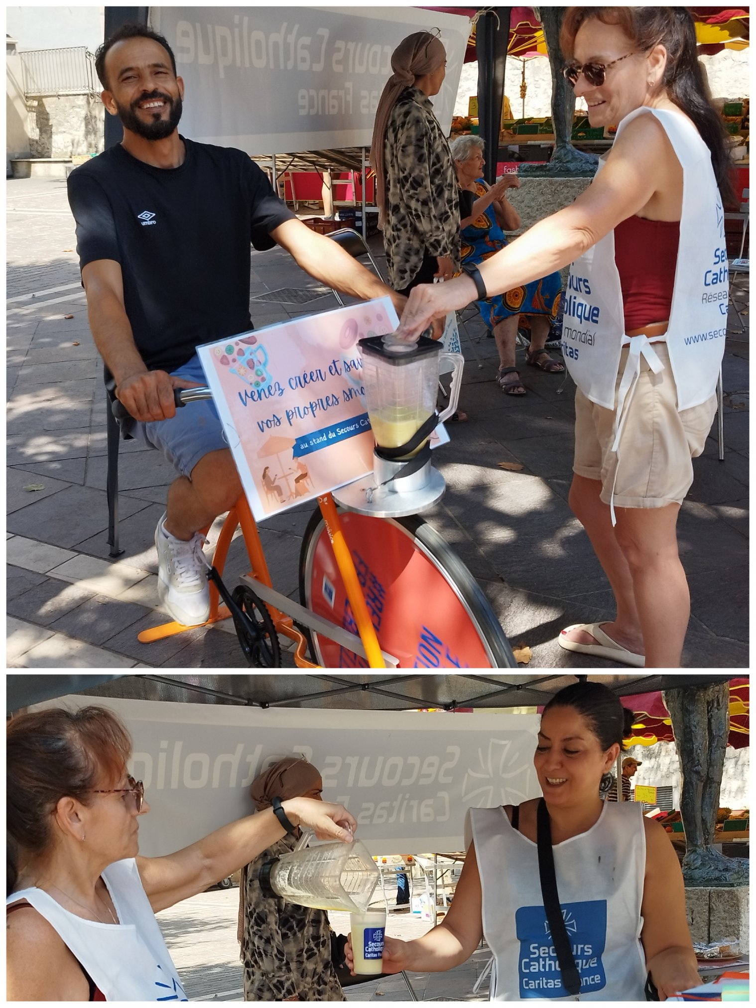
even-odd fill
[(396, 101), (405, 88), (411, 88), (416, 77), (424, 77), (437, 70), (447, 58), (447, 50), (437, 35), (429, 31), (415, 31), (407, 35), (391, 55), (393, 74), (386, 82), (373, 127), (373, 143), (370, 148), (370, 163), (375, 170), (376, 203), (378, 205), (378, 227), (383, 228), (386, 219), (386, 170), (383, 159), (383, 143), (386, 127)]

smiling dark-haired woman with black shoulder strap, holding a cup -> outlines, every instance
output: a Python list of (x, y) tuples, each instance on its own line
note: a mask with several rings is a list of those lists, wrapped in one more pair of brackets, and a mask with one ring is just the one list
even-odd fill
[(470, 810), (449, 913), (421, 938), (386, 937), (384, 973), (454, 969), (485, 935), (494, 1001), (576, 993), (644, 1001), (649, 974), (662, 1000), (698, 984), (682, 873), (666, 833), (639, 804), (599, 796), (631, 724), (631, 713), (601, 683), (579, 682), (553, 697), (533, 757), (543, 797)]

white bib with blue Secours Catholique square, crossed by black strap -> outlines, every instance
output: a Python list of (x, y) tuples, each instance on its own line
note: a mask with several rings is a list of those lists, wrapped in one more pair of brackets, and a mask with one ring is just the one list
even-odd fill
[[(492, 1001), (573, 1000), (549, 934), (536, 845), (503, 808), (471, 808), (483, 891), (483, 933), (494, 955)], [(469, 828), (466, 824), (466, 840)], [(556, 888), (581, 975), (580, 1000), (644, 1001), (640, 932), (646, 841), (634, 802), (604, 802), (587, 832), (555, 844)]]

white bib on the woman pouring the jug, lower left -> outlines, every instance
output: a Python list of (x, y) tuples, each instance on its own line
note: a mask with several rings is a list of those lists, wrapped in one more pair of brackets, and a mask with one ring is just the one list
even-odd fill
[(14, 892), (5, 902), (30, 903), (54, 927), (106, 1001), (187, 1001), (136, 861), (116, 861), (102, 877), (119, 924), (84, 920), (35, 887)]

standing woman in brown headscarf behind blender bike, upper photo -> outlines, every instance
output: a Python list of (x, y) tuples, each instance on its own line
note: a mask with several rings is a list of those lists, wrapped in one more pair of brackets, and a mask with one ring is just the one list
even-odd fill
[[(391, 55), (373, 128), (376, 175), (389, 285), (408, 294), (418, 283), (460, 270), (460, 206), (449, 141), (430, 98), (447, 74), (447, 50), (430, 31), (416, 31)], [(467, 419), (457, 412), (450, 419)]]

